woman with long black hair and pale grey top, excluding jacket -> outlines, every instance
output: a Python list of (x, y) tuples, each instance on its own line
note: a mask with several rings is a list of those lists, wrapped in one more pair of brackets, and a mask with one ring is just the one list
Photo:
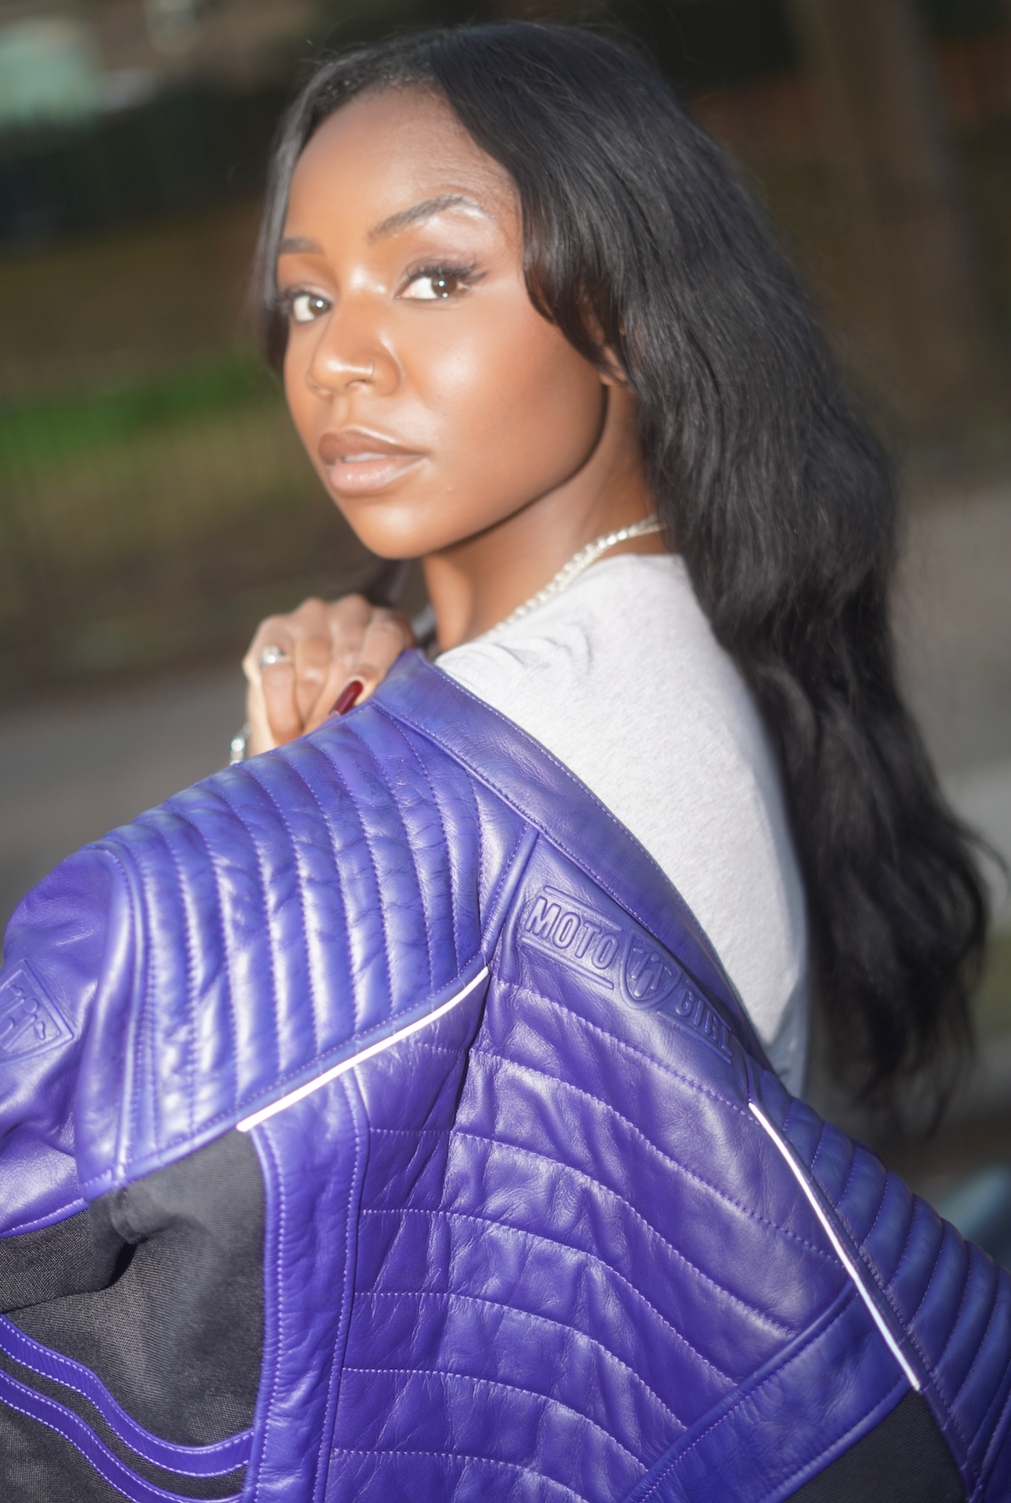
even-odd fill
[[(397, 289), (394, 323), (364, 284), (339, 295), (351, 262), (281, 243), (299, 131), (325, 108), (320, 74), (278, 150), (260, 245), (265, 352), (355, 531), (384, 558), (423, 559), (439, 666), (642, 840), (790, 1088), (803, 1079), (809, 921), (833, 1066), (870, 1100), (894, 1103), (912, 1078), (940, 1103), (969, 1040), (985, 897), (895, 688), (888, 463), (760, 212), (650, 83), (630, 69), (621, 105), (587, 99), (549, 132), (536, 116), (504, 123), (502, 101), (454, 78), (459, 147), (471, 170), (474, 146), (486, 171), (498, 165), (489, 192), (504, 230), (468, 204), (405, 230), (397, 275), (414, 256), (441, 280)], [(388, 102), (375, 116), (363, 132), (391, 132), (406, 177)], [(369, 158), (342, 153), (342, 129), (337, 117), (320, 129), (301, 185), (310, 213), (332, 192), (348, 236), (349, 203), (367, 218)], [(509, 313), (495, 256), (513, 274)], [(382, 284), (378, 301), (391, 290), (381, 262), (352, 272)], [(557, 385), (558, 358), (578, 394)], [(432, 413), (450, 404), (451, 434)], [(408, 425), (424, 451), (403, 476), (352, 461), (354, 445), (385, 442), (384, 424), (394, 439)], [(337, 463), (335, 430), (349, 449)], [(651, 516), (662, 537), (614, 546), (606, 567), (510, 618), (594, 538)], [(666, 546), (676, 558), (660, 564)], [(360, 598), (263, 622), (245, 661), (251, 750), (322, 723), (349, 684), (361, 702), (382, 676), (375, 663), (409, 645), (403, 618)]]

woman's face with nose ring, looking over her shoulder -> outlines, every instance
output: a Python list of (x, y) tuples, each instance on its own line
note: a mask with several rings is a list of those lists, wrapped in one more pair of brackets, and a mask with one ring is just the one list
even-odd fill
[(593, 454), (605, 383), (530, 302), (513, 183), (438, 99), (364, 95), (319, 128), (277, 281), (295, 425), (375, 553), (471, 538)]

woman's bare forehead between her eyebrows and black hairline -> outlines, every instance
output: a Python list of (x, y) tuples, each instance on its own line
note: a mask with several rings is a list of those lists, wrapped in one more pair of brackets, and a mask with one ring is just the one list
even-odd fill
[[(490, 216), (515, 210), (512, 179), (451, 108), (420, 89), (366, 93), (319, 126), (295, 167), (287, 228), (340, 216), (372, 227), (444, 194), (474, 198)], [(298, 221), (298, 222), (296, 222)]]

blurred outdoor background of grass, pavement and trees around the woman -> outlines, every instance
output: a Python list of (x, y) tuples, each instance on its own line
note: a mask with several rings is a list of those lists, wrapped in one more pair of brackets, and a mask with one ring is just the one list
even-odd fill
[[(5, 921), (221, 765), (263, 615), (370, 577), (253, 350), (269, 141), (320, 48), (502, 15), (636, 35), (743, 164), (900, 463), (906, 687), (1011, 857), (1011, 0), (0, 0)], [(937, 1138), (886, 1151), (1011, 1258), (990, 878), (976, 1073)]]

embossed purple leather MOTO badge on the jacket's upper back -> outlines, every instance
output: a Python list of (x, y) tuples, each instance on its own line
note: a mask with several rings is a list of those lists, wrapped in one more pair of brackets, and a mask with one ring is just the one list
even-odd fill
[(543, 887), (519, 921), (522, 944), (632, 1007), (660, 1012), (686, 1025), (722, 1060), (731, 1060), (730, 1030), (665, 950), (557, 887)]

